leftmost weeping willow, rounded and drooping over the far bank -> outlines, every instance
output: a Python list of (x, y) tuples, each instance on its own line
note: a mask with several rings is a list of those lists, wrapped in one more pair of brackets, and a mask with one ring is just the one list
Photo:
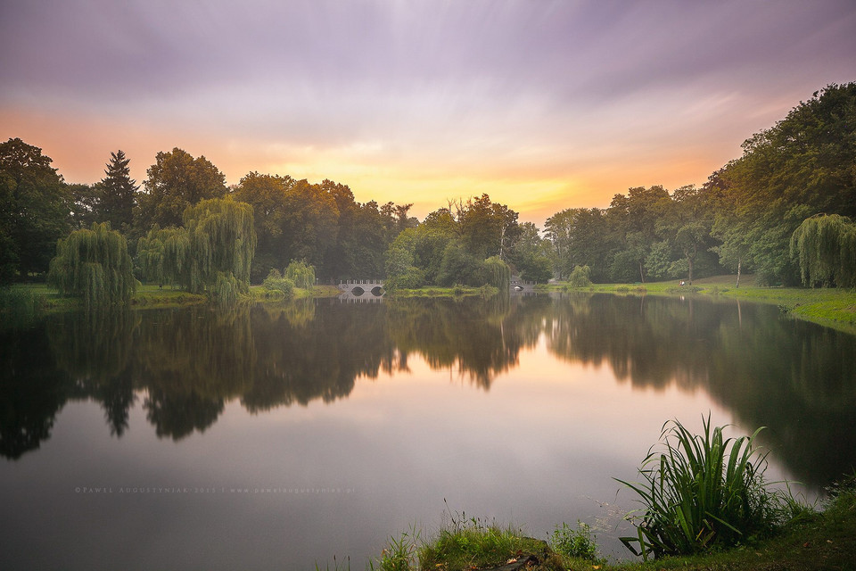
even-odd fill
[(126, 303), (136, 290), (128, 243), (107, 222), (60, 240), (47, 279), (61, 294), (83, 298), (86, 308)]

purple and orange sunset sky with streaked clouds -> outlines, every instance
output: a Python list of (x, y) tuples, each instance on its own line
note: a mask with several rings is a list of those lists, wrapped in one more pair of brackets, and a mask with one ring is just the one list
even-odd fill
[(178, 147), (420, 219), (701, 185), (854, 80), (853, 0), (0, 0), (0, 140), (67, 182)]

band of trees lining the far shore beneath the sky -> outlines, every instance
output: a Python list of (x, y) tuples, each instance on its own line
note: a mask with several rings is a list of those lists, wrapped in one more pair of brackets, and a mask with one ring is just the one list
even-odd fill
[(251, 172), (226, 186), (204, 156), (178, 148), (157, 154), (142, 186), (121, 151), (100, 182), (66, 184), (41, 149), (9, 139), (0, 280), (44, 275), (58, 239), (92, 228), (127, 240), (137, 278), (193, 291), (219, 280), (240, 292), (292, 261), (321, 280), (385, 277), (391, 287), (501, 286), (512, 273), (543, 282), (575, 269), (595, 282), (731, 271), (770, 285), (856, 285), (856, 83), (819, 90), (742, 148), (702, 186), (630, 188), (606, 208), (556, 212), (542, 232), (488, 194), (449, 200), (420, 221), (411, 204), (358, 203), (331, 180)]

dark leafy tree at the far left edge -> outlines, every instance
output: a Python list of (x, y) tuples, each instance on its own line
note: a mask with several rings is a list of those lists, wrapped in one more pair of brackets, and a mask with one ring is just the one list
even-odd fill
[(20, 138), (0, 143), (0, 283), (47, 271), (69, 232), (70, 196), (52, 162)]

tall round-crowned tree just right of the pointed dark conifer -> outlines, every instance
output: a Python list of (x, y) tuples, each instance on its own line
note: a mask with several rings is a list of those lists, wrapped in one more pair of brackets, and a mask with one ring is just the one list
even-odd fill
[(146, 174), (136, 212), (136, 226), (143, 231), (152, 224), (179, 226), (188, 206), (226, 194), (226, 177), (217, 167), (179, 148), (158, 153)]

